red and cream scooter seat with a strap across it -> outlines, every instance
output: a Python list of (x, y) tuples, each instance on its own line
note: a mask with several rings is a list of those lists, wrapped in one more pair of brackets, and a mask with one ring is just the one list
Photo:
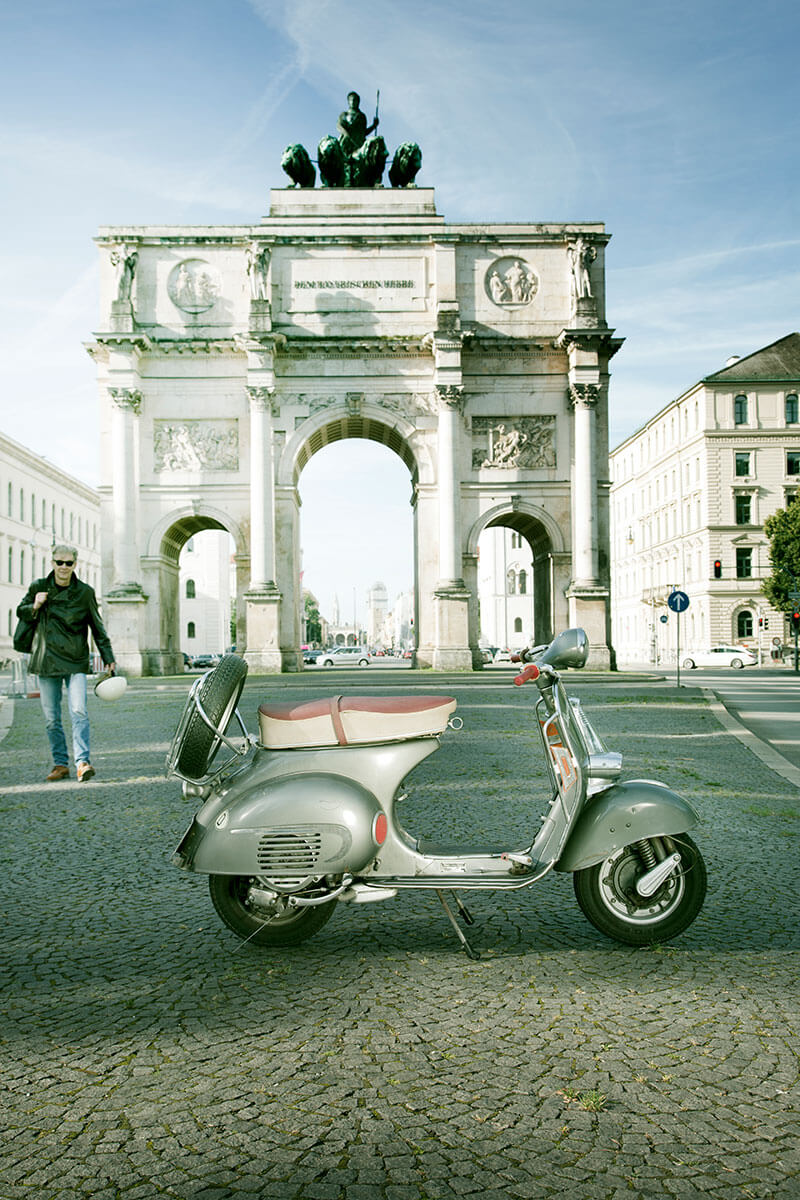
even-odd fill
[(451, 696), (326, 696), (261, 704), (258, 724), (269, 750), (363, 745), (437, 737), (455, 708)]

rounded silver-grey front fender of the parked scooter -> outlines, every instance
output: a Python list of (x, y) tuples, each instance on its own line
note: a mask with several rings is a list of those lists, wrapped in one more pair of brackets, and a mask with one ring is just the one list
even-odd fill
[(554, 869), (581, 871), (632, 841), (685, 833), (698, 821), (691, 804), (663, 784), (649, 779), (614, 784), (581, 811)]

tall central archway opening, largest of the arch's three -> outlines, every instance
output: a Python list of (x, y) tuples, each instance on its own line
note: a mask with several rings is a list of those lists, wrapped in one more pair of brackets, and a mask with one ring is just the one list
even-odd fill
[(415, 467), (407, 443), (379, 422), (343, 419), (314, 433), (299, 470), (303, 644), (413, 648)]

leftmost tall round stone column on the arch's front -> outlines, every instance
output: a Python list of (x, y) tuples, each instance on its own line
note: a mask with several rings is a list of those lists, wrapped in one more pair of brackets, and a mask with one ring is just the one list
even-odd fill
[(133, 419), (142, 412), (142, 392), (133, 388), (109, 388), (108, 394), (112, 397), (112, 494), (114, 499), (114, 582), (109, 594), (140, 594)]

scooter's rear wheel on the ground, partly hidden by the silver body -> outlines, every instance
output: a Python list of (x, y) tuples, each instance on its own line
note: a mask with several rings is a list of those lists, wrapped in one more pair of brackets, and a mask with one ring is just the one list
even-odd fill
[(237, 937), (257, 946), (299, 946), (333, 916), (329, 904), (291, 907), (278, 898), (273, 905), (253, 900), (259, 881), (251, 875), (210, 875), (209, 892), (217, 914)]

